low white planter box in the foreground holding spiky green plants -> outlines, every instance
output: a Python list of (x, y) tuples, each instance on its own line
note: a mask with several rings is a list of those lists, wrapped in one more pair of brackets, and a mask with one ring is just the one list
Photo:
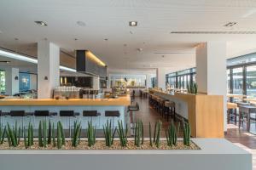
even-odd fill
[(201, 150), (0, 150), (1, 170), (252, 170), (252, 155), (225, 139)]

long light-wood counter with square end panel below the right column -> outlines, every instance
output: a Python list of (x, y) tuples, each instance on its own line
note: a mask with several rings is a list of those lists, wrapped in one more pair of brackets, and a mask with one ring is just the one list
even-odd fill
[(193, 137), (224, 137), (223, 96), (183, 93), (172, 95), (158, 90), (150, 90), (150, 93), (175, 102), (177, 114), (189, 120)]

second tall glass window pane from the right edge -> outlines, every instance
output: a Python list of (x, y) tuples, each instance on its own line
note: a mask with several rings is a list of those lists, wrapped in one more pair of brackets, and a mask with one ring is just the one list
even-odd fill
[(233, 73), (233, 94), (243, 94), (242, 67), (232, 69)]

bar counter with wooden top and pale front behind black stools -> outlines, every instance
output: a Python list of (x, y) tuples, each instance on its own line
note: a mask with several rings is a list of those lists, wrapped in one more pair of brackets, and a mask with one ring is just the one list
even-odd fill
[[(60, 111), (74, 111), (78, 112), (79, 116), (70, 117), (72, 121), (78, 120), (82, 122), (82, 127), (87, 127), (87, 122), (92, 121), (98, 129), (102, 129), (102, 125), (111, 119), (117, 125), (118, 120), (125, 123), (130, 123), (129, 114), (127, 113), (127, 106), (131, 104), (130, 95), (121, 96), (117, 99), (0, 99), (0, 111), (26, 111), (33, 113), (34, 111), (49, 111), (56, 112), (57, 116), (46, 117), (52, 122), (61, 121), (64, 128), (69, 127), (69, 117), (59, 116)], [(83, 111), (97, 111), (100, 116), (84, 117)], [(105, 111), (119, 111), (119, 117), (106, 117)], [(40, 120), (45, 117), (29, 116), (23, 117), (24, 124), (32, 122), (34, 127), (38, 127)], [(20, 117), (3, 116), (3, 125), (7, 122), (14, 124), (16, 121), (20, 123)], [(71, 121), (71, 122), (72, 122)], [(73, 126), (73, 122), (72, 122)]]

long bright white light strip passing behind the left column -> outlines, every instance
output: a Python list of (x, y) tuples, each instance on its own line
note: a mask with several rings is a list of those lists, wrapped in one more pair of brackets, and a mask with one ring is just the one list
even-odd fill
[[(32, 59), (32, 58), (27, 57), (27, 56), (22, 55), (22, 54), (14, 54), (14, 53), (10, 53), (8, 51), (3, 51), (1, 49), (0, 49), (0, 55), (2, 55), (4, 57), (8, 57), (10, 59), (19, 59), (19, 60), (26, 61), (26, 62), (29, 62), (29, 63), (38, 64), (38, 59)], [(60, 69), (63, 70), (63, 71), (76, 72), (75, 69), (72, 69), (72, 68), (69, 68), (69, 67), (66, 67), (66, 66), (62, 66), (62, 65), (60, 65)]]

